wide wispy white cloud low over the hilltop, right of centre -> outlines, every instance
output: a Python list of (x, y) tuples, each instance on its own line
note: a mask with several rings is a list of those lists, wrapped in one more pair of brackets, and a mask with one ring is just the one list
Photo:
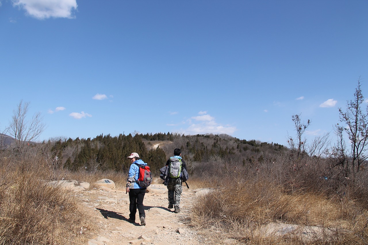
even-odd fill
[[(187, 121), (189, 127), (187, 129), (182, 129), (185, 134), (233, 134), (236, 131), (236, 127), (230, 125), (221, 125), (216, 123), (215, 118), (206, 114), (205, 111), (200, 111), (198, 114), (201, 116), (191, 117)], [(195, 122), (192, 123), (192, 120)]]

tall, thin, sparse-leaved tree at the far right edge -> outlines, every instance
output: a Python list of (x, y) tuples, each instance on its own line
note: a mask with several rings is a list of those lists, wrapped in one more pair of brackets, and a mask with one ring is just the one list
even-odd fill
[(351, 168), (359, 171), (364, 160), (368, 145), (368, 105), (363, 109), (364, 97), (361, 90), (360, 77), (355, 88), (354, 100), (347, 101), (346, 110), (339, 108), (340, 121), (346, 124), (344, 131), (347, 132), (351, 142)]

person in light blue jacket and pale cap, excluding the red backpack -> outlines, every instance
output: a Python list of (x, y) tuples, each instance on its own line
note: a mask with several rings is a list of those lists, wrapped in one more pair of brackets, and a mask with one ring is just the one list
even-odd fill
[(130, 156), (127, 157), (130, 159), (131, 165), (129, 168), (128, 179), (127, 179), (127, 192), (129, 192), (129, 219), (128, 221), (131, 223), (135, 223), (135, 214), (137, 213), (137, 207), (139, 212), (139, 219), (141, 220), (141, 226), (146, 225), (146, 214), (144, 212), (143, 199), (146, 193), (147, 188), (142, 188), (138, 185), (138, 173), (139, 173), (139, 165), (147, 165), (144, 161), (139, 159), (139, 155), (136, 152), (133, 152)]

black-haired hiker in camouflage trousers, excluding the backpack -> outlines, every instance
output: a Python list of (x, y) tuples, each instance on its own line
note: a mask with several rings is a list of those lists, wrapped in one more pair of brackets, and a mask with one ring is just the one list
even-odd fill
[[(170, 166), (170, 159), (171, 158), (176, 158), (176, 159), (180, 159), (181, 160), (181, 167), (182, 170), (185, 168), (185, 170), (187, 170), (187, 164), (185, 163), (185, 161), (181, 158), (181, 150), (180, 149), (175, 149), (174, 150), (174, 156), (170, 157), (167, 162), (166, 162), (166, 166)], [(167, 175), (166, 179), (165, 179), (165, 185), (167, 185), (167, 196), (169, 198), (169, 206), (167, 208), (172, 209), (174, 208), (174, 213), (179, 213), (180, 212), (180, 195), (181, 192), (183, 192), (183, 181), (181, 180), (181, 178), (171, 178), (169, 176), (169, 174)]]

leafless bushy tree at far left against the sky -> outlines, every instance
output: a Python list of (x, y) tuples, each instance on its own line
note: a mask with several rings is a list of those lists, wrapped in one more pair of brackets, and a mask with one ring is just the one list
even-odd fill
[(13, 110), (13, 116), (9, 123), (9, 134), (15, 141), (15, 150), (23, 153), (29, 143), (36, 140), (45, 130), (46, 125), (42, 122), (41, 113), (35, 113), (31, 120), (27, 119), (29, 102), (24, 103), (23, 100)]

